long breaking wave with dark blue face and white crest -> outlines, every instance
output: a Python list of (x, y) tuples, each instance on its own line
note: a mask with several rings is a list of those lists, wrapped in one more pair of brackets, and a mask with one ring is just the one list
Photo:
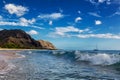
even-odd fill
[(76, 61), (89, 62), (93, 65), (112, 65), (120, 62), (119, 54), (109, 53), (91, 53), (81, 51), (53, 51), (54, 55), (66, 56), (67, 58), (74, 58)]

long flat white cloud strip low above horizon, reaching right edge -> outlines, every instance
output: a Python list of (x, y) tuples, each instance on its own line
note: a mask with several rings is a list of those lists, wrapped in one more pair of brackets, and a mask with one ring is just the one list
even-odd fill
[(106, 38), (106, 39), (120, 39), (120, 35), (115, 35), (111, 33), (106, 34), (78, 34), (75, 35), (78, 38)]

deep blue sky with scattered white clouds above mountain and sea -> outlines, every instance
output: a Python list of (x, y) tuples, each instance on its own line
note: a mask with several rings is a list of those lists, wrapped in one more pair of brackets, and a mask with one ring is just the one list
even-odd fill
[(120, 50), (120, 0), (0, 0), (3, 29), (22, 29), (59, 49)]

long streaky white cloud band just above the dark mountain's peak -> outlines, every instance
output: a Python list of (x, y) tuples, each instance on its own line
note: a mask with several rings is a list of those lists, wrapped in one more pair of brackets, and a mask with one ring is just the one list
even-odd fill
[[(11, 19), (10, 19), (11, 20)], [(36, 20), (34, 18), (32, 19), (26, 19), (24, 17), (20, 18), (19, 20), (10, 21), (9, 19), (0, 19), (0, 25), (1, 26), (22, 26), (22, 27), (31, 27), (31, 28), (37, 28), (37, 29), (45, 29), (43, 27), (40, 27), (39, 25), (36, 25)]]

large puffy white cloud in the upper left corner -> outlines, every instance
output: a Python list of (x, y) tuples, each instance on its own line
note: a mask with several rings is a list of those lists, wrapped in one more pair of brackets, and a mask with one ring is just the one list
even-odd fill
[(26, 7), (23, 7), (20, 5), (15, 5), (15, 4), (6, 4), (5, 9), (10, 14), (16, 14), (17, 16), (22, 16), (28, 11), (28, 9)]

